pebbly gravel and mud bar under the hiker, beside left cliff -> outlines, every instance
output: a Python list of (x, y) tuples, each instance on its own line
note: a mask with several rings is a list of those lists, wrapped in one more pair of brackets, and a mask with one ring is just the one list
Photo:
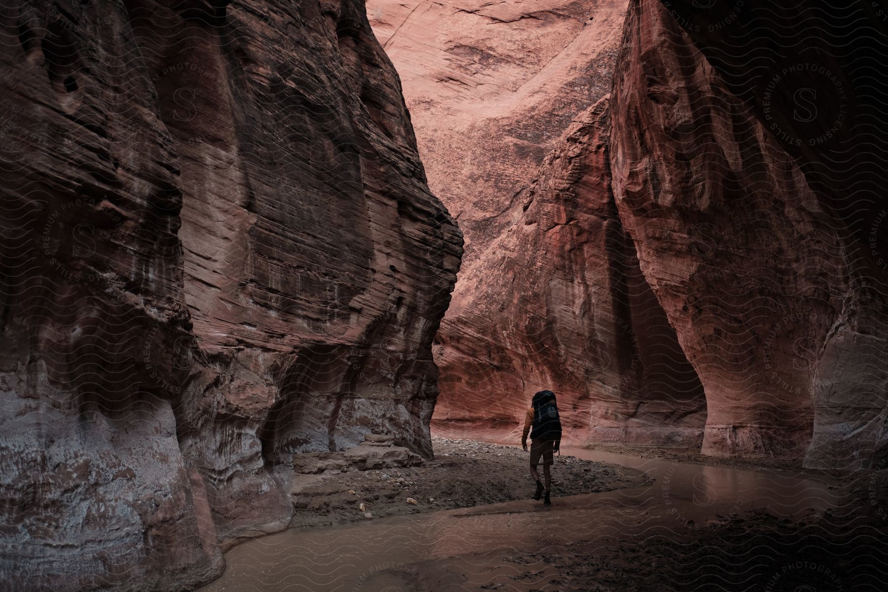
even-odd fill
[[(528, 473), (529, 454), (520, 448), (448, 438), (432, 438), (432, 446), (434, 460), (415, 467), (331, 471), (306, 477), (309, 483), (297, 496), (290, 526), (341, 525), (527, 499), (534, 493), (535, 484)], [(539, 471), (542, 479), (542, 467)], [(649, 483), (651, 479), (638, 470), (556, 454), (552, 503), (557, 504), (559, 496)], [(409, 503), (408, 498), (416, 504)]]

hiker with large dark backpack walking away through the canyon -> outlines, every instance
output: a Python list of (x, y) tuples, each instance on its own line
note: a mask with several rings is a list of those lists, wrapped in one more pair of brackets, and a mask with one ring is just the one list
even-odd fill
[[(530, 432), (530, 476), (536, 481), (536, 493), (534, 499), (539, 500), (545, 492), (543, 503), (551, 505), (549, 493), (551, 492), (551, 472), (549, 467), (553, 462), (553, 454), (559, 451), (561, 446), (561, 420), (558, 416), (558, 405), (555, 402), (555, 393), (552, 391), (539, 391), (534, 395), (524, 415), (524, 433), (521, 435), (521, 447), (527, 452), (527, 432)], [(531, 430), (533, 427), (533, 430)], [(540, 475), (536, 472), (536, 465), (543, 457), (543, 478), (546, 480), (545, 488), (540, 483)]]

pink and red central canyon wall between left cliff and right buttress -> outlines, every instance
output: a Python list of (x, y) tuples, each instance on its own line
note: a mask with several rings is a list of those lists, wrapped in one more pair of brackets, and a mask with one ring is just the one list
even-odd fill
[[(699, 383), (662, 311), (639, 305), (654, 298), (608, 205), (606, 148), (591, 138), (607, 121), (593, 124), (589, 109), (611, 88), (625, 0), (367, 7), (400, 72), (429, 185), (465, 235), (434, 348), (442, 376), (434, 429), (508, 437), (546, 387), (570, 408), (575, 441), (699, 442)], [(633, 333), (643, 311), (653, 317), (642, 330), (659, 351), (644, 362)], [(651, 380), (665, 383), (638, 391)], [(675, 411), (638, 406), (685, 388)], [(698, 402), (686, 408), (685, 399)], [(675, 431), (682, 422), (694, 427)]]

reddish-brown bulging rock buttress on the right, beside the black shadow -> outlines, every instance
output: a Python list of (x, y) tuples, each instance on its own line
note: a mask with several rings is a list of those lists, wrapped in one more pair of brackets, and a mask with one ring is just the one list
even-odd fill
[(866, 465), (888, 436), (881, 280), (852, 222), (672, 14), (630, 4), (611, 169), (641, 271), (706, 392), (703, 452)]

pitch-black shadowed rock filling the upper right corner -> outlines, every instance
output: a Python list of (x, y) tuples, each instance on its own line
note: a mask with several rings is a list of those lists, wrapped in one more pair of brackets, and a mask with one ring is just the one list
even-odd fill
[(872, 266), (874, 281), (884, 275), (888, 227), (880, 214), (888, 162), (888, 78), (872, 75), (882, 67), (888, 43), (884, 5), (865, 0), (662, 4), (724, 86), (797, 158), (818, 200), (863, 243), (853, 254), (854, 265)]

